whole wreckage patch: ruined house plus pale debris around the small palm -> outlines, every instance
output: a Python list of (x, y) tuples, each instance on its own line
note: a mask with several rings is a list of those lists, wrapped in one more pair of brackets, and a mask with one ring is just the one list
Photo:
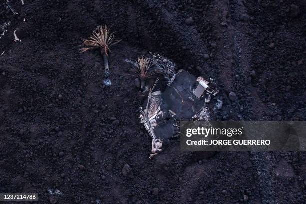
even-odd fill
[[(142, 60), (146, 67), (141, 67)], [(158, 54), (127, 62), (138, 73), (135, 85), (148, 93), (140, 107), (140, 119), (152, 137), (150, 158), (162, 151), (164, 141), (178, 136), (180, 120), (209, 121), (206, 103), (218, 93), (213, 79), (195, 77), (183, 69), (177, 71), (171, 60)]]

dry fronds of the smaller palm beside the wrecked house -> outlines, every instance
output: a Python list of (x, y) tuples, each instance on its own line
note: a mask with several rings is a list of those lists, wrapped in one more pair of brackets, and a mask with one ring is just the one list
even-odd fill
[(149, 58), (142, 57), (138, 58), (138, 62), (136, 64), (136, 68), (134, 68), (133, 72), (135, 74), (131, 74), (134, 76), (139, 76), (140, 79), (145, 80), (147, 78), (153, 78), (157, 72), (151, 71), (150, 68), (152, 66), (152, 61)]

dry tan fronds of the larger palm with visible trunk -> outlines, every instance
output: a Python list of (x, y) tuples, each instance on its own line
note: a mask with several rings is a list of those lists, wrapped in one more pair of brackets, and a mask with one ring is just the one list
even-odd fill
[(100, 49), (101, 54), (108, 54), (111, 52), (110, 47), (117, 44), (121, 40), (115, 40), (114, 32), (110, 32), (110, 29), (105, 26), (97, 26), (92, 32), (92, 35), (88, 39), (83, 40), (83, 45), (86, 47), (81, 48), (81, 52), (85, 52), (91, 49)]

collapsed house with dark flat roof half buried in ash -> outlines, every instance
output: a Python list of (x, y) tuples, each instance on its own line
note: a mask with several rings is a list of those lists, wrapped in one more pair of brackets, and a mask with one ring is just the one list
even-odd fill
[(153, 139), (150, 158), (162, 151), (163, 141), (177, 136), (180, 120), (208, 120), (205, 103), (218, 93), (212, 79), (196, 78), (182, 69), (172, 74), (165, 91), (153, 89), (140, 108), (141, 123)]

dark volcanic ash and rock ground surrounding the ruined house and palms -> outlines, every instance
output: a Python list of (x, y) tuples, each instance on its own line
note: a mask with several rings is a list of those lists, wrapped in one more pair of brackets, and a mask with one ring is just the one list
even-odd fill
[[(224, 103), (213, 120), (305, 120), (305, 0), (8, 4), (18, 14), (1, 1), (0, 192), (38, 203), (306, 202), (305, 152), (182, 152), (172, 141), (148, 159), (146, 97), (125, 62), (151, 51), (216, 79)], [(122, 39), (109, 87), (99, 52), (79, 52), (104, 24)]]

